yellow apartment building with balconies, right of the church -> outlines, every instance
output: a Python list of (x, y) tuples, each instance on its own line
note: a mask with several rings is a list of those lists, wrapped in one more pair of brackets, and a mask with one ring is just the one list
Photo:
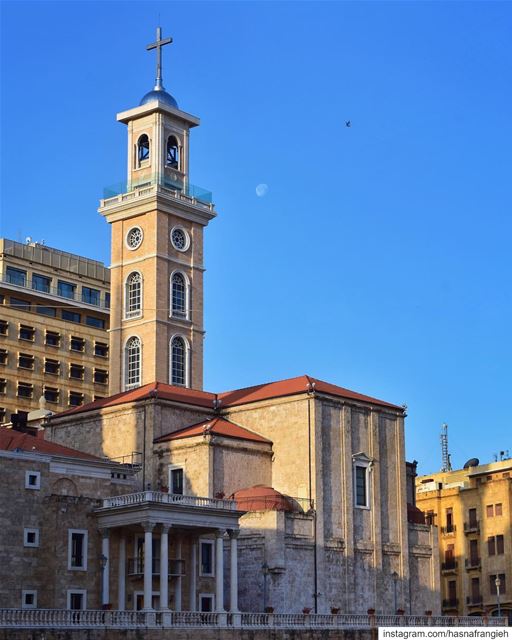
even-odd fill
[(439, 527), (445, 615), (512, 616), (512, 459), (421, 476), (416, 504)]

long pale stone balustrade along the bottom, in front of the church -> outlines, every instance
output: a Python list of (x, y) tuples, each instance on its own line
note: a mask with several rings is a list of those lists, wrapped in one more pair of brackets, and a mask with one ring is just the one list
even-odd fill
[(0, 609), (0, 629), (53, 628), (246, 628), (246, 629), (370, 629), (415, 626), (507, 626), (505, 617), (397, 616), (367, 614), (239, 613), (195, 611), (71, 611), (63, 609)]

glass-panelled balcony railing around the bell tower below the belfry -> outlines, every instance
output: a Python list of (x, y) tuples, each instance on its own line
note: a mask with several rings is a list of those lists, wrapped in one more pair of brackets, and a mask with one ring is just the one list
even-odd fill
[(138, 185), (118, 182), (105, 187), (103, 189), (101, 207), (109, 207), (133, 198), (151, 195), (156, 193), (157, 190), (161, 190), (161, 193), (170, 195), (173, 198), (188, 200), (192, 204), (199, 203), (209, 209), (213, 209), (211, 191), (189, 183), (173, 182), (168, 177), (163, 176), (151, 176)]

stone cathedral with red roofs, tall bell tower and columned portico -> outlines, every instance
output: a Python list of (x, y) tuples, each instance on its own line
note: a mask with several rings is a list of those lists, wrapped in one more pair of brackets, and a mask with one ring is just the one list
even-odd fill
[(166, 42), (159, 30), (154, 89), (117, 116), (127, 184), (99, 208), (112, 232), (110, 396), (41, 426), (61, 447), (48, 455), (68, 447), (117, 478), (96, 482), (80, 525), (101, 584), (71, 605), (438, 613), (437, 533), (414, 507), (402, 407), (306, 375), (203, 390), (203, 241), (217, 214), (189, 182), (199, 119), (163, 88)]

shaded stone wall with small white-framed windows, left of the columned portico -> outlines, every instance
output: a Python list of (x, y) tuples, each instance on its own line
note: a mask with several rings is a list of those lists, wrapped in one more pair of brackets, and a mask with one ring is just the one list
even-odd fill
[[(75, 463), (76, 464), (76, 463)], [(41, 488), (25, 488), (25, 472), (41, 474)], [(22, 590), (36, 590), (39, 608), (67, 606), (68, 589), (86, 589), (88, 608), (100, 606), (101, 540), (94, 509), (100, 499), (133, 490), (130, 481), (52, 472), (44, 457), (0, 459), (0, 602), (21, 608)], [(90, 473), (90, 472), (88, 472)], [(39, 546), (23, 545), (25, 527), (39, 529)], [(68, 530), (88, 532), (87, 571), (68, 569)]]

